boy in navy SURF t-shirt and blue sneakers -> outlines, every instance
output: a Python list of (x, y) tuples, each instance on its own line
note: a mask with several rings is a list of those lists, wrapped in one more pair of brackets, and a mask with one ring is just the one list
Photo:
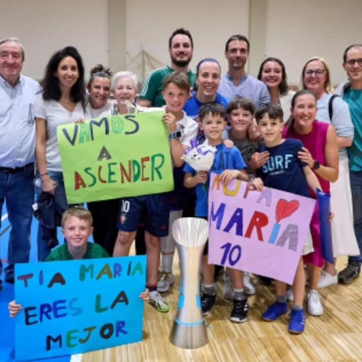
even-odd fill
[[(267, 151), (267, 162), (257, 170), (258, 178), (253, 180), (257, 190), (263, 186), (309, 197), (308, 186), (312, 190), (322, 189), (317, 176), (305, 162), (298, 158), (303, 144), (296, 139), (283, 139), (283, 110), (274, 105), (262, 106), (255, 113), (265, 145), (260, 152)], [(288, 310), (286, 284), (275, 281), (277, 301), (262, 314), (262, 319), (274, 321)], [(305, 273), (300, 257), (293, 282), (294, 304), (290, 313), (288, 330), (299, 334), (304, 331), (306, 317), (303, 309)]]

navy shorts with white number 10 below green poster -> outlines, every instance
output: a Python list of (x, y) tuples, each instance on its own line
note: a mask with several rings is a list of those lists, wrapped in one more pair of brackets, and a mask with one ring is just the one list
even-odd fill
[(137, 231), (139, 224), (154, 236), (168, 235), (169, 193), (126, 197), (119, 201), (118, 229)]

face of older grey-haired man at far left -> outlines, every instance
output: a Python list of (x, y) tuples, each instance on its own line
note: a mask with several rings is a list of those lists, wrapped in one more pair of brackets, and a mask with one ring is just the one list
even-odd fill
[(0, 45), (0, 75), (11, 85), (18, 81), (23, 62), (19, 44), (6, 42)]

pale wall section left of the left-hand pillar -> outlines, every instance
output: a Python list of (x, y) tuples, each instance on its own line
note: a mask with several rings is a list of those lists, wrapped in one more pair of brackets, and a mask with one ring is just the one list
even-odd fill
[(108, 64), (107, 0), (0, 0), (0, 38), (25, 47), (23, 74), (41, 79), (50, 55), (67, 45), (82, 55), (86, 72)]

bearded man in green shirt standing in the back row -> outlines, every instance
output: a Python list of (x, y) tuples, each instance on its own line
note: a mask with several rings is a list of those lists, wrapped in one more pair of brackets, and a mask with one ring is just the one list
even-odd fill
[(149, 73), (139, 94), (138, 104), (140, 106), (162, 107), (166, 104), (162, 97), (162, 82), (172, 72), (186, 73), (191, 87), (194, 86), (196, 75), (189, 69), (193, 50), (194, 42), (190, 32), (185, 28), (176, 29), (168, 40), (171, 64)]

